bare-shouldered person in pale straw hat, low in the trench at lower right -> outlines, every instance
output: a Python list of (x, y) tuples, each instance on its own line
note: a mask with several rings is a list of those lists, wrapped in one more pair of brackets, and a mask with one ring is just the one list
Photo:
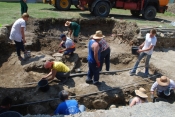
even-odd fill
[(137, 104), (145, 103), (147, 101), (146, 90), (144, 88), (139, 88), (139, 90), (135, 90), (136, 97), (132, 98), (129, 101), (129, 106), (132, 107)]

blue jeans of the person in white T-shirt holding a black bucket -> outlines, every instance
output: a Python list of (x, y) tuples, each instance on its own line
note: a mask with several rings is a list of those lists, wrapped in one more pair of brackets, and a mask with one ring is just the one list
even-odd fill
[(138, 57), (138, 60), (137, 60), (137, 62), (135, 63), (134, 68), (132, 69), (131, 72), (136, 72), (139, 63), (140, 63), (141, 59), (142, 59), (144, 56), (146, 56), (145, 69), (148, 69), (148, 68), (149, 68), (149, 60), (150, 60), (150, 58), (151, 58), (151, 55), (148, 55), (148, 54), (142, 52), (142, 53), (140, 53), (140, 55), (139, 55), (139, 57)]

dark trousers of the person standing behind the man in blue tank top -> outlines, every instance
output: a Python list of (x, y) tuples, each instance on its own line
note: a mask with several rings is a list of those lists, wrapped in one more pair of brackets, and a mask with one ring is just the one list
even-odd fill
[(100, 71), (102, 70), (104, 59), (106, 64), (106, 71), (109, 71), (110, 68), (110, 48), (107, 48), (106, 50), (102, 51), (100, 54)]

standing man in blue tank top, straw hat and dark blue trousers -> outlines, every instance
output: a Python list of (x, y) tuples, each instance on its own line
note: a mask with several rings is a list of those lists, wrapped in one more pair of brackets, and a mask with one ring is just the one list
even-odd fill
[[(100, 69), (100, 45), (99, 41), (103, 38), (102, 31), (96, 31), (93, 35), (93, 39), (89, 41), (88, 45), (88, 66), (89, 71), (86, 79), (86, 83), (92, 83), (99, 85), (99, 69)], [(94, 79), (92, 80), (92, 77)]]

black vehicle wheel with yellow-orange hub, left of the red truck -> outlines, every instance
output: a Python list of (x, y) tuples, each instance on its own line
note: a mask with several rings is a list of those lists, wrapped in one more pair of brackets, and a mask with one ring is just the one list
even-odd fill
[(56, 8), (59, 10), (69, 10), (71, 6), (71, 1), (70, 0), (56, 0)]

